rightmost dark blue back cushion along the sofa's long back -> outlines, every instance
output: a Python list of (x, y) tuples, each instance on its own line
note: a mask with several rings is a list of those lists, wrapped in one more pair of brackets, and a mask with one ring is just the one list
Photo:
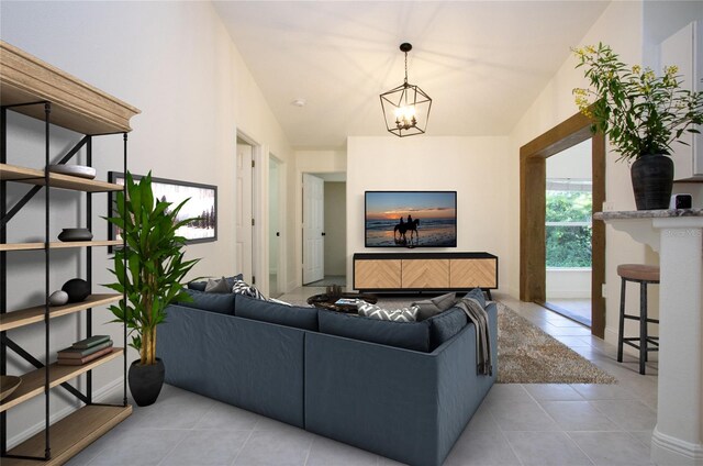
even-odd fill
[(317, 310), (320, 332), (406, 350), (429, 351), (429, 323), (392, 322)]

